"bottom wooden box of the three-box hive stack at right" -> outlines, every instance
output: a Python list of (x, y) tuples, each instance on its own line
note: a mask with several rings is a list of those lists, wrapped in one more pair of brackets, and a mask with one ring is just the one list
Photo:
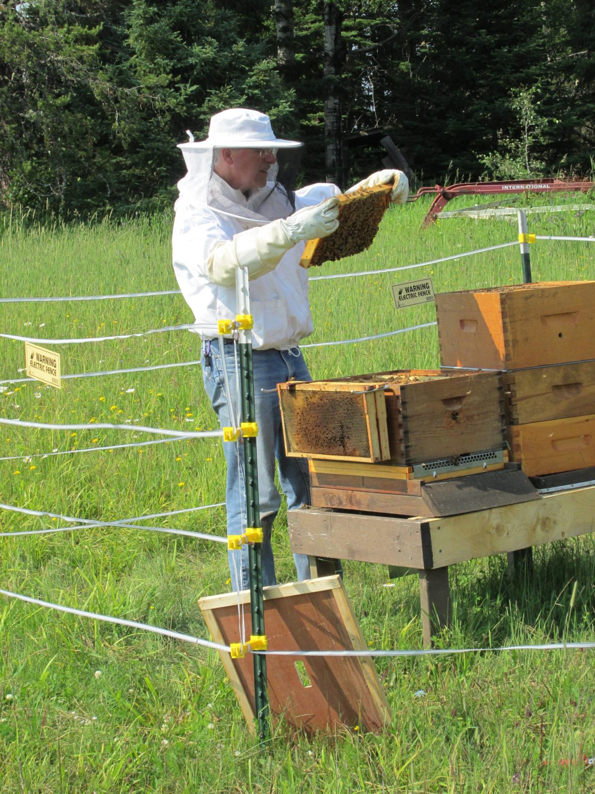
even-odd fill
[(595, 414), (511, 425), (508, 442), (529, 477), (595, 466)]

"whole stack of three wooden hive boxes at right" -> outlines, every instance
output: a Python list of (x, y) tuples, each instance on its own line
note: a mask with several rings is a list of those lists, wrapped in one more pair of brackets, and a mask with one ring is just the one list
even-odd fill
[(512, 461), (532, 477), (595, 466), (595, 282), (444, 293), (436, 316), (443, 366), (505, 371)]

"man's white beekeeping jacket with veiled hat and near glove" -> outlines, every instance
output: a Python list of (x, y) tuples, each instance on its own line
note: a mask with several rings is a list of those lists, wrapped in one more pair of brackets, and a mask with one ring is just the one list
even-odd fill
[[(237, 314), (234, 268), (245, 264), (251, 278), (254, 349), (290, 349), (313, 331), (308, 274), (298, 266), (304, 241), (323, 237), (338, 225), (334, 202), (307, 210), (308, 217), (301, 218), (294, 214), (291, 199), (295, 210), (301, 210), (340, 190), (318, 183), (287, 195), (277, 180), (275, 162), (266, 186), (245, 195), (213, 171), (217, 152), (225, 147), (276, 149), (279, 161), (290, 155), (286, 163), (291, 170), (291, 156), (301, 144), (274, 137), (267, 116), (232, 109), (213, 116), (206, 141), (179, 145), (188, 174), (178, 182), (175, 203), (175, 276), (200, 326), (198, 333), (212, 339), (217, 337), (217, 320)], [(284, 218), (289, 220), (279, 221)]]

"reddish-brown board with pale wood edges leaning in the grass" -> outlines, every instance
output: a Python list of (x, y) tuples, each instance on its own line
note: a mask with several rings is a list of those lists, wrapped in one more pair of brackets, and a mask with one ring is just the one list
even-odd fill
[[(340, 576), (263, 589), (264, 625), (269, 650), (367, 649)], [(250, 593), (240, 592), (247, 609)], [(215, 642), (238, 642), (238, 595), (227, 593), (198, 602)], [(251, 654), (232, 659), (220, 652), (236, 697), (254, 729), (254, 666)], [(301, 661), (309, 684), (298, 673)], [(267, 656), (267, 687), (272, 714), (308, 731), (349, 728), (378, 732), (390, 723), (390, 708), (370, 657)]]

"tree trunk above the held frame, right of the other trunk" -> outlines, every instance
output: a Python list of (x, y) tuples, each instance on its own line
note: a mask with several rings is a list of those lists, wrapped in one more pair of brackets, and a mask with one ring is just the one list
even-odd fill
[(324, 3), (324, 165), (328, 182), (344, 187), (341, 130), (341, 23), (343, 14), (334, 2)]

